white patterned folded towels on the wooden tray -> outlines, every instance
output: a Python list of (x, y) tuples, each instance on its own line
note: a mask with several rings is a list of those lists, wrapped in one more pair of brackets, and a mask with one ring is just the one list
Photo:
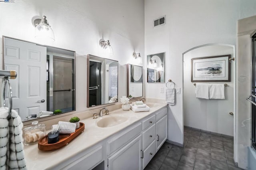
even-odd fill
[(58, 125), (52, 125), (52, 130), (58, 130), (60, 133), (74, 133), (76, 131), (76, 123), (59, 121)]

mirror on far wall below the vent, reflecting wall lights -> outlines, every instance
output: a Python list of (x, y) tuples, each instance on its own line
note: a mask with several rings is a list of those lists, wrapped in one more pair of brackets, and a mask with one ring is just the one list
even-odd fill
[(147, 55), (148, 83), (164, 83), (165, 53)]

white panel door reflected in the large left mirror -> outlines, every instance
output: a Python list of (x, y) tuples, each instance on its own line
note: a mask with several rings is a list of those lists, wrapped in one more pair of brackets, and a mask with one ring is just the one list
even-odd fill
[(17, 71), (10, 80), (12, 108), (21, 119), (46, 111), (46, 47), (4, 38), (4, 69)]

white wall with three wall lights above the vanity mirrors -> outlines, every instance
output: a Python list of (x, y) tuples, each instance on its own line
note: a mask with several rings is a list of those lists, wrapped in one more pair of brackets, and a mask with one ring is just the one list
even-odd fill
[[(54, 42), (34, 38), (32, 18), (42, 15), (54, 30)], [(0, 3), (0, 16), (1, 54), (2, 36), (76, 51), (76, 113), (88, 110), (87, 54), (119, 61), (119, 98), (126, 95), (126, 63), (136, 64), (134, 50), (144, 59), (144, 0), (16, 0)], [(100, 47), (101, 38), (110, 40), (113, 56)]]

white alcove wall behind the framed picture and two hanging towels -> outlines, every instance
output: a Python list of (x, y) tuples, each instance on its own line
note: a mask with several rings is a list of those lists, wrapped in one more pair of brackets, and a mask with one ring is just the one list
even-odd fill
[[(184, 54), (183, 69), (183, 109), (184, 125), (188, 127), (207, 130), (229, 136), (234, 135), (234, 117), (229, 112), (234, 112), (234, 64), (231, 63), (230, 82), (226, 83), (225, 99), (198, 99), (196, 98), (195, 86), (191, 82), (191, 59), (196, 57), (228, 55), (234, 57), (234, 48), (224, 45), (210, 45), (199, 47)], [(200, 83), (200, 82), (198, 82)], [(205, 82), (214, 83), (214, 82)]]

